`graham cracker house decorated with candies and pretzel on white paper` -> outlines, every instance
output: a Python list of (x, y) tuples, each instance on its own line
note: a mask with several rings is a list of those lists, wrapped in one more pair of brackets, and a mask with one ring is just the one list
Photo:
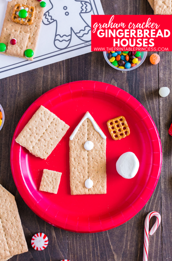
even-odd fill
[(39, 0), (8, 2), (0, 36), (1, 54), (33, 60), (44, 6), (46, 3)]

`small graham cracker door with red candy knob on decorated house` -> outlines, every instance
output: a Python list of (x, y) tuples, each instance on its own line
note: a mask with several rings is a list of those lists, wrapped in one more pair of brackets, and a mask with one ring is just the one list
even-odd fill
[[(10, 44), (10, 40), (13, 38), (17, 40), (17, 43), (14, 45)], [(13, 32), (10, 35), (7, 54), (8, 55), (15, 54), (16, 56), (22, 57), (24, 55), (24, 51), (26, 50), (28, 38), (29, 38), (29, 34)]]

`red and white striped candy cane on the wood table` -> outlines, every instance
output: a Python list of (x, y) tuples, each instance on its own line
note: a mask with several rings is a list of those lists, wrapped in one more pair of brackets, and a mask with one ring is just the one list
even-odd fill
[[(157, 217), (156, 222), (154, 224), (154, 226), (151, 228), (151, 230), (149, 231), (149, 221), (151, 219), (151, 217)], [(156, 211), (152, 211), (150, 212), (146, 218), (145, 218), (145, 222), (144, 222), (144, 249), (143, 249), (143, 261), (148, 261), (148, 247), (149, 247), (149, 235), (153, 235), (154, 232), (157, 230), (157, 228), (159, 227), (159, 224), (161, 223), (161, 216), (159, 215), (158, 212)]]

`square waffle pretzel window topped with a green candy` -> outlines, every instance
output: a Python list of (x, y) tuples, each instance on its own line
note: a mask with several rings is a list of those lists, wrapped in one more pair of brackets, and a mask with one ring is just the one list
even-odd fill
[[(18, 16), (18, 12), (21, 10), (21, 7), (23, 7), (24, 9), (28, 8), (26, 9), (26, 11), (28, 10), (27, 11), (28, 15), (25, 18), (20, 18)], [(13, 9), (11, 21), (14, 23), (30, 25), (33, 23), (34, 14), (35, 14), (35, 8), (33, 6), (25, 5), (25, 4), (16, 4)]]

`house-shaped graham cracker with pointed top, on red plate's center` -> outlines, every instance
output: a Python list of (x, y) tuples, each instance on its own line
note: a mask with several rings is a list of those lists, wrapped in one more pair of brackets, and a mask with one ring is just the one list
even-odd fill
[[(94, 143), (92, 150), (84, 149), (86, 141)], [(106, 139), (89, 119), (83, 121), (69, 147), (71, 195), (106, 194)], [(91, 189), (85, 187), (88, 178), (93, 181)]]

